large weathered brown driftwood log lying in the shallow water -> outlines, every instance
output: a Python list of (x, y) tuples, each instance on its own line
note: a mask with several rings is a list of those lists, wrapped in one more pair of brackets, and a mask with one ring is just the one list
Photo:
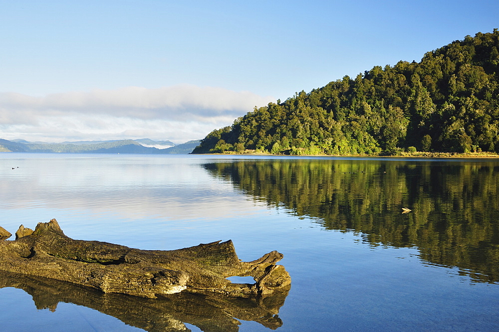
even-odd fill
[[(144, 298), (182, 291), (240, 298), (287, 292), (289, 274), (275, 265), (281, 259), (282, 254), (272, 251), (242, 262), (230, 240), (171, 251), (73, 240), (55, 219), (38, 223), (34, 231), (21, 225), (15, 241), (0, 241), (1, 271)], [(255, 283), (233, 284), (226, 279), (232, 276), (251, 276)]]

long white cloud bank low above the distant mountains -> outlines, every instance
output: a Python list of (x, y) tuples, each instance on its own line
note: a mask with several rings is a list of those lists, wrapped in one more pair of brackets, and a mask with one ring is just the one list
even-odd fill
[(0, 138), (60, 142), (147, 137), (182, 143), (203, 138), (272, 100), (248, 91), (187, 84), (43, 97), (3, 92)]

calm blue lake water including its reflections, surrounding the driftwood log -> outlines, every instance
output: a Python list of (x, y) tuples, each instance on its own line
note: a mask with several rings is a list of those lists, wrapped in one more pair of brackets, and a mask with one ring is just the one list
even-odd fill
[(499, 330), (499, 160), (2, 153), (0, 183), (12, 234), (55, 218), (140, 249), (232, 239), (292, 279), (261, 304), (0, 272), (1, 331)]

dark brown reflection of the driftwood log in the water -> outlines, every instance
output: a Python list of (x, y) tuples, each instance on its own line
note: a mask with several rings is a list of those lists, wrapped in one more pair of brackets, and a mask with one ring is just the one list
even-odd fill
[(148, 332), (190, 331), (184, 323), (204, 332), (237, 332), (238, 320), (254, 321), (275, 330), (287, 291), (269, 296), (235, 298), (221, 294), (178, 293), (158, 299), (105, 294), (57, 280), (2, 272), (0, 288), (14, 287), (33, 297), (36, 309), (55, 311), (59, 302), (72, 303), (113, 316)]

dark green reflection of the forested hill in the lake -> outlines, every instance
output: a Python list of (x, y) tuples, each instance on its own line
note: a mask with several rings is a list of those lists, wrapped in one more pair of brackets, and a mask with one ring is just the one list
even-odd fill
[(373, 247), (417, 248), (422, 260), (458, 267), (474, 282), (499, 282), (497, 162), (267, 159), (204, 167), (324, 229), (354, 232)]

